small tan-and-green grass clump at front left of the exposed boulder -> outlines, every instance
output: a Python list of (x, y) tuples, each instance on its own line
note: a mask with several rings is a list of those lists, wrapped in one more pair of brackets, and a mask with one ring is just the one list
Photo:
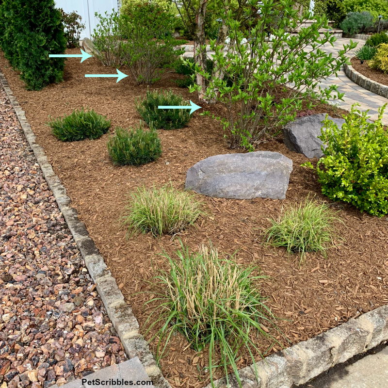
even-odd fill
[(193, 225), (201, 214), (201, 203), (193, 194), (178, 191), (167, 184), (159, 189), (142, 187), (130, 193), (122, 220), (132, 233), (151, 232), (158, 236), (180, 232)]

